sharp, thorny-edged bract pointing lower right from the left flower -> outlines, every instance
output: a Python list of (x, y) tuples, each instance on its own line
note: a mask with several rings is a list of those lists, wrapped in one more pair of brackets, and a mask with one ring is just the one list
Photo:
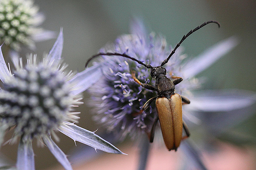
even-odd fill
[(59, 131), (64, 135), (70, 137), (74, 141), (89, 145), (95, 150), (99, 149), (108, 153), (125, 154), (108, 141), (105, 141), (104, 139), (96, 135), (94, 132), (83, 129), (82, 127), (79, 127), (77, 125), (62, 125)]

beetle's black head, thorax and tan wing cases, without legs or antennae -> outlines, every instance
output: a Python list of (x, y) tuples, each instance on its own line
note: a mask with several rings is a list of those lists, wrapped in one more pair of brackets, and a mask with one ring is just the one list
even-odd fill
[[(164, 143), (168, 150), (177, 150), (182, 140), (182, 98), (179, 94), (174, 93), (174, 83), (166, 77), (164, 67), (152, 68), (150, 75), (156, 79), (155, 90), (158, 96), (156, 98), (156, 111)], [(180, 82), (182, 78), (177, 80)], [(151, 135), (152, 133), (150, 138), (154, 137)]]

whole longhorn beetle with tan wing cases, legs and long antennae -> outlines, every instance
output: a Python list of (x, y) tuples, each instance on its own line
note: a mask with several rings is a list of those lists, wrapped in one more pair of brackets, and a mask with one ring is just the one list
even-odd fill
[[(146, 68), (151, 69), (150, 75), (152, 78), (156, 79), (155, 87), (150, 84), (144, 84), (141, 83), (136, 77), (135, 73), (132, 72), (132, 78), (135, 82), (137, 82), (140, 86), (153, 90), (157, 92), (157, 96), (151, 98), (148, 100), (144, 106), (142, 107), (141, 111), (139, 113), (142, 113), (144, 110), (146, 110), (150, 104), (156, 100), (156, 111), (158, 113), (158, 119), (160, 121), (160, 126), (162, 130), (162, 135), (164, 138), (164, 143), (168, 150), (174, 149), (175, 151), (180, 145), (180, 142), (183, 139), (186, 139), (189, 137), (190, 133), (188, 131), (188, 128), (186, 127), (186, 124), (182, 120), (182, 102), (184, 104), (189, 104), (190, 101), (184, 97), (180, 96), (179, 94), (175, 93), (175, 85), (180, 83), (183, 79), (181, 77), (172, 76), (172, 78), (175, 78), (175, 80), (171, 80), (170, 78), (166, 77), (166, 69), (163, 67), (164, 64), (168, 63), (169, 59), (172, 57), (172, 55), (175, 53), (176, 49), (180, 46), (180, 44), (193, 32), (197, 31), (198, 29), (202, 28), (203, 26), (207, 25), (208, 23), (216, 23), (218, 24), (218, 27), (220, 27), (220, 23), (217, 21), (207, 21), (205, 23), (202, 23), (202, 25), (196, 27), (195, 29), (189, 31), (186, 35), (182, 37), (180, 42), (176, 45), (176, 47), (172, 50), (170, 55), (165, 59), (160, 66), (153, 67), (150, 64), (144, 64), (142, 61), (139, 61), (133, 57), (130, 57), (126, 55), (125, 53), (98, 53), (94, 56), (92, 56), (86, 63), (85, 67), (88, 65), (88, 63), (94, 59), (95, 57), (106, 55), (106, 56), (121, 56), (126, 57), (128, 59), (131, 59), (133, 61), (136, 61), (139, 64), (142, 64)], [(152, 126), (151, 132), (148, 134), (150, 142), (153, 142), (154, 139), (154, 130), (156, 127), (156, 123), (158, 121), (154, 122)], [(182, 137), (182, 130), (185, 130), (186, 136)]]

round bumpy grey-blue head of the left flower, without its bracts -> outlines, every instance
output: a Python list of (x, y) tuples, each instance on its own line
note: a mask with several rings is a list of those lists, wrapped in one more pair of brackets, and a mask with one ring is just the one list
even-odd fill
[(6, 77), (0, 91), (2, 123), (14, 129), (14, 139), (41, 138), (58, 129), (64, 121), (78, 118), (71, 106), (81, 104), (79, 97), (72, 95), (72, 86), (67, 83), (72, 74), (64, 72), (64, 66), (49, 58), (37, 63), (31, 56), (27, 64), (20, 65)]

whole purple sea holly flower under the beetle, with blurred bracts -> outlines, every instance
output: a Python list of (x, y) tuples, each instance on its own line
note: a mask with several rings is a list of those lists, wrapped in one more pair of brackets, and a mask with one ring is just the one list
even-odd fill
[[(204, 142), (209, 135), (212, 135), (212, 139), (223, 133), (228, 129), (227, 127), (239, 123), (254, 113), (252, 111), (256, 102), (254, 93), (239, 90), (194, 91), (200, 89), (204, 80), (195, 76), (228, 53), (236, 44), (236, 38), (230, 37), (193, 59), (186, 59), (187, 55), (184, 55), (182, 47), (179, 47), (170, 61), (164, 65), (168, 77), (183, 78), (183, 81), (175, 86), (176, 93), (188, 97), (191, 101), (191, 104), (183, 107), (183, 120), (187, 123), (191, 136), (203, 125), (201, 127), (204, 128), (202, 129), (204, 135), (201, 134), (198, 139)], [(152, 66), (159, 66), (171, 51), (172, 47), (162, 35), (147, 34), (144, 25), (138, 21), (132, 23), (131, 34), (121, 35), (113, 44), (100, 49), (100, 53), (125, 53)], [(101, 66), (103, 74), (99, 82), (88, 90), (91, 95), (88, 103), (93, 108), (92, 113), (95, 113), (94, 119), (108, 131), (115, 133), (117, 139), (122, 140), (127, 136), (137, 139), (142, 133), (150, 133), (158, 116), (156, 106), (153, 102), (143, 113), (140, 109), (147, 100), (155, 97), (156, 93), (139, 86), (133, 81), (131, 74), (135, 72), (140, 82), (154, 85), (155, 80), (150, 76), (151, 70), (120, 56), (102, 56), (93, 65)], [(229, 116), (232, 113), (234, 115)], [(156, 131), (159, 131), (158, 129), (159, 126)], [(188, 142), (191, 139), (193, 138), (190, 137), (186, 142), (182, 141), (181, 148), (188, 153), (186, 156), (190, 157), (190, 160), (196, 160), (194, 162), (197, 168), (204, 169), (198, 156), (199, 151)], [(141, 153), (145, 155), (140, 158), (146, 159), (148, 152)]]

